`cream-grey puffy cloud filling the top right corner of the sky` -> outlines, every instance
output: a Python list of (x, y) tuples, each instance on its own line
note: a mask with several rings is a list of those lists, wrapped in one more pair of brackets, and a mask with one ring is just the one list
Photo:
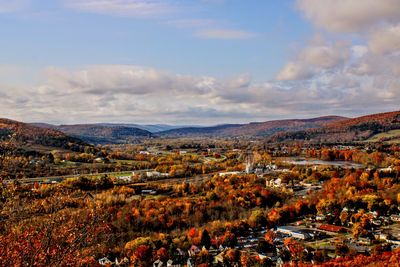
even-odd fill
[(333, 32), (400, 21), (400, 0), (297, 0), (297, 5), (314, 25)]

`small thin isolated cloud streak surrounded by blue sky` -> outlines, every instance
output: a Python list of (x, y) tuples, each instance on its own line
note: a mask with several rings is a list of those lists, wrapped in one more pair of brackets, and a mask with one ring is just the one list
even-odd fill
[(243, 40), (256, 36), (253, 32), (234, 29), (204, 29), (194, 33), (195, 37), (203, 39)]

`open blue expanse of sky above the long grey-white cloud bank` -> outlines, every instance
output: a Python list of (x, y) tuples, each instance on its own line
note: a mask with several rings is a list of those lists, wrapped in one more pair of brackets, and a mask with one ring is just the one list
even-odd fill
[[(176, 11), (155, 18), (82, 12), (65, 2), (36, 0), (17, 14), (2, 14), (0, 49), (7, 52), (1, 62), (34, 67), (134, 64), (217, 77), (249, 72), (265, 80), (285, 63), (291, 45), (311, 32), (292, 1), (181, 1), (185, 4), (177, 2)], [(196, 36), (202, 29), (252, 36)]]

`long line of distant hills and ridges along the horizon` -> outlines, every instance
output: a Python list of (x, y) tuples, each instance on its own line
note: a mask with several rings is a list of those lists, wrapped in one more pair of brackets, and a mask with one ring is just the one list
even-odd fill
[[(286, 119), (247, 124), (216, 126), (172, 126), (122, 123), (34, 126), (61, 131), (93, 144), (132, 143), (153, 137), (232, 137), (266, 138), (270, 142), (304, 140), (312, 142), (352, 142), (367, 140), (386, 131), (400, 129), (400, 111), (378, 113), (358, 118), (323, 116), (311, 119)], [(138, 127), (136, 127), (138, 126)], [(139, 126), (141, 128), (139, 128)], [(167, 129), (167, 130), (163, 130)], [(162, 131), (160, 131), (162, 130)]]

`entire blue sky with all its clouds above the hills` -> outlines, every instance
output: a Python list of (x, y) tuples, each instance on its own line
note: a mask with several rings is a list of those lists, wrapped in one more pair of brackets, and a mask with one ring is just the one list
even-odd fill
[(0, 36), (0, 117), (19, 121), (400, 109), (400, 0), (0, 0)]

